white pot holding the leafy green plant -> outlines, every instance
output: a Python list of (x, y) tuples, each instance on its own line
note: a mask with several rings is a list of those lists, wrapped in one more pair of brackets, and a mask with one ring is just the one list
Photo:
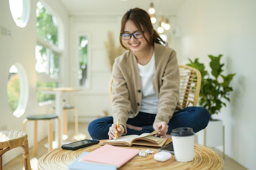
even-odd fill
[[(222, 120), (209, 121), (208, 126), (204, 130), (197, 132), (198, 144), (205, 145), (207, 147), (223, 146)], [(204, 141), (204, 134), (205, 134), (205, 141)]]

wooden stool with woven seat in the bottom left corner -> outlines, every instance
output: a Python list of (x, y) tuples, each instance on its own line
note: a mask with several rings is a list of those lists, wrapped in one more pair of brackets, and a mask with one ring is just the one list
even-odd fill
[(25, 170), (31, 170), (27, 133), (18, 130), (0, 130), (0, 170), (2, 170), (2, 155), (8, 150), (17, 147), (23, 149)]

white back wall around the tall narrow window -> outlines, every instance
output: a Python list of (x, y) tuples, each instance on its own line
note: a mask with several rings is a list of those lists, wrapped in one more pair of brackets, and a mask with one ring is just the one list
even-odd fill
[[(77, 82), (77, 61), (78, 40), (81, 35), (89, 37), (89, 88), (83, 92), (72, 95), (72, 105), (79, 111), (79, 121), (90, 122), (98, 116), (103, 116), (107, 111), (112, 115), (112, 108), (109, 98), (109, 80), (111, 77), (108, 54), (105, 42), (108, 41), (108, 32), (114, 36), (115, 47), (120, 46), (119, 33), (122, 15), (103, 15), (100, 12), (97, 16), (73, 16), (70, 18), (70, 82), (71, 86), (78, 86)], [(175, 18), (170, 17), (171, 24)], [(168, 43), (172, 44), (171, 30), (165, 31)], [(111, 44), (108, 44), (111, 45)]]

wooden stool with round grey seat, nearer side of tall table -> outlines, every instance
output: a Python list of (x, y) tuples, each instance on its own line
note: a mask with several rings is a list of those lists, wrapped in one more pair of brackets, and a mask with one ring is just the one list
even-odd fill
[[(48, 122), (48, 152), (53, 149), (52, 142), (54, 138), (53, 134), (53, 125), (52, 119), (58, 120), (58, 147), (61, 147), (61, 121), (57, 115), (32, 115), (28, 116), (26, 119), (23, 120), (23, 131), (26, 130), (26, 123), (27, 121), (34, 121), (34, 156), (38, 154), (38, 147), (37, 147), (37, 121), (38, 120), (45, 120)], [(56, 129), (57, 130), (57, 129)], [(55, 139), (56, 140), (56, 139)]]

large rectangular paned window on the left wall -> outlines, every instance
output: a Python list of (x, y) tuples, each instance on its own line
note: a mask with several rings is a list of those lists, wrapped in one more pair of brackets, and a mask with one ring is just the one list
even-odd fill
[[(59, 22), (50, 11), (41, 3), (36, 7), (36, 87), (61, 86), (61, 53), (58, 47)], [(45, 95), (37, 91), (37, 99), (40, 105), (55, 100), (55, 95)]]

